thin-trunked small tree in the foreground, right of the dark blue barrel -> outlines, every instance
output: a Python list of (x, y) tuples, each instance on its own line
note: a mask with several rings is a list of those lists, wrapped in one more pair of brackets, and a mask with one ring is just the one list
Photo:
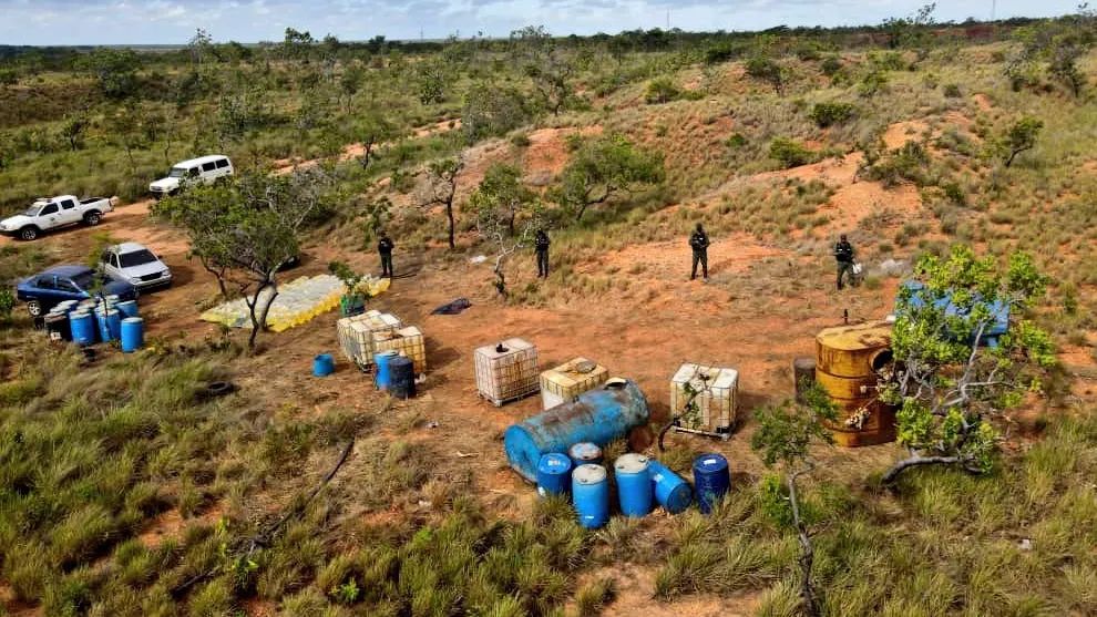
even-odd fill
[(833, 422), (838, 409), (818, 385), (808, 388), (803, 404), (786, 401), (780, 405), (763, 407), (755, 411), (758, 429), (751, 436), (750, 445), (759, 453), (767, 467), (777, 467), (785, 479), (763, 484), (771, 502), (775, 518), (791, 525), (800, 543), (800, 596), (807, 615), (820, 615), (819, 598), (811, 582), (814, 563), (814, 548), (811, 534), (803, 515), (799, 494), (799, 480), (810, 473), (816, 463), (809, 448), (812, 443), (832, 443), (830, 431), (823, 422)]

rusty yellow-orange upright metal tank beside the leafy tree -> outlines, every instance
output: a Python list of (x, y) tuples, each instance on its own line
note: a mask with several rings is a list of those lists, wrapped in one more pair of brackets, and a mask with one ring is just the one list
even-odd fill
[(886, 321), (827, 328), (816, 337), (816, 381), (841, 409), (829, 426), (839, 445), (895, 440), (895, 410), (876, 398), (876, 371), (891, 361)]

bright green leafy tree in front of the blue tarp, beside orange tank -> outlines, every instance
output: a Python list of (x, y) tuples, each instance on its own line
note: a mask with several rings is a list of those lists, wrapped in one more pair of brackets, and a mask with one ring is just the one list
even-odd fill
[[(1029, 320), (1046, 278), (1028, 255), (1012, 255), (1001, 272), (992, 257), (957, 245), (947, 257), (922, 257), (914, 272), (920, 286), (904, 286), (898, 299), (898, 369), (880, 389), (881, 400), (900, 405), (899, 442), (909, 455), (888, 470), (884, 484), (920, 465), (990, 471), (998, 443), (993, 421), (1038, 392), (1056, 363), (1050, 337)], [(985, 345), (1003, 311), (1007, 333)]]

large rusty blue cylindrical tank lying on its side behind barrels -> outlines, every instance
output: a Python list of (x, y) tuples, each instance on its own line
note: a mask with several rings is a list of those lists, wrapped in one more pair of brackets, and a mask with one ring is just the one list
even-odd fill
[(542, 454), (564, 454), (578, 442), (605, 445), (646, 424), (648, 417), (647, 400), (636, 383), (611, 380), (572, 402), (512, 424), (503, 433), (503, 448), (514, 471), (536, 482)]

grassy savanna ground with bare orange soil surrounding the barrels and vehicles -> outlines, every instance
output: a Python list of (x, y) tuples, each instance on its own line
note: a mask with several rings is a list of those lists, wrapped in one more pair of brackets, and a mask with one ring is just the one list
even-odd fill
[[(902, 267), (885, 260), (956, 243), (1036, 256), (1052, 281), (1034, 312), (1062, 367), (1003, 422), (990, 474), (922, 469), (889, 491), (879, 476), (899, 446), (816, 452), (804, 500), (826, 614), (1097, 614), (1093, 16), (904, 23), (4, 55), (0, 212), (62, 193), (143, 200), (172, 163), (214, 151), (245, 171), (319, 160), (340, 200), (304, 235), (301, 272), (372, 268), (362, 247), (383, 226), (409, 274), (376, 306), (408, 322), (454, 297), (475, 310), (429, 322), (417, 400), (349, 369), (305, 378), (336, 349), (334, 318), (246, 352), (246, 332), (197, 323), (218, 297), (186, 236), (124, 206), (109, 233), (184, 272), (142, 298), (147, 349), (88, 362), (21, 313), (0, 321), (0, 615), (797, 615), (799, 545), (747, 445), (751, 411), (789, 394), (789, 360), (810, 353), (812, 332), (842, 311), (891, 310)], [(1053, 62), (1064, 54), (1069, 66)], [(562, 64), (554, 111), (544, 72)], [(1040, 130), (1007, 164), (1023, 119)], [(658, 177), (577, 217), (576, 162), (613, 140), (657, 161)], [(452, 250), (442, 208), (423, 206), (427, 166), (451, 156), (463, 163)], [(553, 235), (552, 276), (534, 282), (519, 251), (506, 298), (472, 197), (500, 165), (526, 189), (516, 223), (535, 215)], [(698, 222), (714, 274), (686, 287)], [(834, 296), (842, 233), (870, 271)], [(95, 241), (73, 230), (0, 245), (0, 279), (84, 260)], [(695, 454), (725, 452), (732, 493), (710, 517), (617, 517), (598, 532), (536, 500), (500, 442), (536, 403), (495, 410), (470, 379), (468, 351), (502, 329), (544, 341), (546, 361), (593, 348), (635, 372), (655, 430), (674, 362), (741, 362), (731, 442), (660, 454), (685, 473)], [(206, 395), (218, 380), (239, 389)]]

